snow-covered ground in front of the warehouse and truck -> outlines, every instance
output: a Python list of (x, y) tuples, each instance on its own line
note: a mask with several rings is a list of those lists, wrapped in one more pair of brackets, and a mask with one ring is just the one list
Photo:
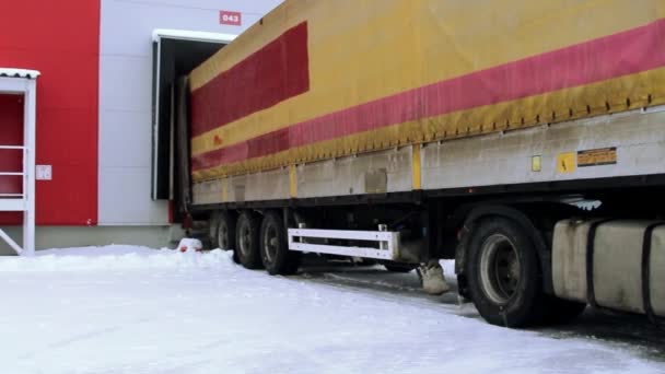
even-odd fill
[(0, 372), (665, 372), (631, 346), (508, 330), (468, 317), (468, 305), (342, 281), (269, 277), (220, 250), (2, 257)]

